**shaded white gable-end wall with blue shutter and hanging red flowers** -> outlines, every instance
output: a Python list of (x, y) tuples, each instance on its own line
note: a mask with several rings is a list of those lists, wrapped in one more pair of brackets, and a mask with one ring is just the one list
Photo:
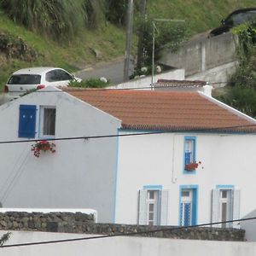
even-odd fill
[[(51, 90), (51, 89), (48, 89)], [(116, 134), (120, 121), (63, 92), (36, 92), (0, 107), (0, 142), (18, 138), (20, 104), (55, 106), (55, 137)], [(38, 134), (36, 135), (36, 139)], [(32, 143), (0, 144), (3, 207), (93, 208), (113, 220), (117, 138), (56, 141), (36, 158)]]

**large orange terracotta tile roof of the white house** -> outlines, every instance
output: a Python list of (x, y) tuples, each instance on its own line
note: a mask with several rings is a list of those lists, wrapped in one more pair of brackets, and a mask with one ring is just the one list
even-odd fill
[(232, 113), (198, 92), (65, 91), (121, 119), (124, 129), (190, 131), (221, 128), (220, 131), (256, 131), (256, 128), (248, 126), (256, 125), (256, 120), (236, 111)]

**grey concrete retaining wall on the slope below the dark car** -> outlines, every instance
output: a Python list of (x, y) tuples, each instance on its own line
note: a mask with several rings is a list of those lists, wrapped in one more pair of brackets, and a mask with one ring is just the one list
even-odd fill
[(235, 61), (235, 41), (231, 33), (191, 40), (177, 53), (165, 54), (160, 62), (172, 67), (184, 68), (185, 76), (188, 77)]

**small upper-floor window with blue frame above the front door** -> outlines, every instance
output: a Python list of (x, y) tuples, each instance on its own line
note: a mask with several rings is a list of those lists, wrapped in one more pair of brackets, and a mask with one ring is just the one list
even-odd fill
[(184, 137), (183, 171), (184, 173), (195, 173), (195, 169), (186, 170), (186, 165), (196, 161), (196, 137)]

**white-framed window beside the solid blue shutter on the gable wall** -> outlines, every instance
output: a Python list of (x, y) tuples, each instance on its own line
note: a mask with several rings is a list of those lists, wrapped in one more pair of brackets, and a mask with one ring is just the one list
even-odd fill
[(54, 137), (55, 136), (55, 118), (56, 118), (55, 107), (41, 107), (40, 113), (41, 113), (40, 136)]

